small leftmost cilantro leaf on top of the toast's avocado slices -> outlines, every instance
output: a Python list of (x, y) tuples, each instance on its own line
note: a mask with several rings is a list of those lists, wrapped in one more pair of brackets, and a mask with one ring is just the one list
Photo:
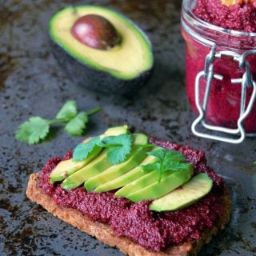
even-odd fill
[(73, 160), (85, 160), (88, 157), (88, 155), (94, 151), (95, 147), (98, 146), (98, 142), (100, 142), (100, 138), (95, 137), (90, 139), (89, 142), (78, 144), (78, 146), (74, 148)]

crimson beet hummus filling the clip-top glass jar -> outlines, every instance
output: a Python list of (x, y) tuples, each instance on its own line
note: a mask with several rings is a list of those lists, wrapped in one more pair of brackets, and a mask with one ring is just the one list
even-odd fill
[[(249, 32), (256, 32), (256, 1), (241, 1), (234, 5), (227, 6), (221, 0), (186, 0), (194, 5), (188, 7), (191, 13), (200, 19), (194, 21), (192, 17), (186, 20), (186, 15), (182, 19), (186, 20), (190, 30), (198, 33), (202, 41), (194, 37), (190, 30), (182, 27), (182, 35), (186, 41), (186, 94), (194, 112), (198, 113), (195, 102), (195, 81), (199, 72), (204, 70), (206, 55), (210, 53), (212, 45), (204, 43), (207, 39), (216, 45), (216, 52), (230, 51), (235, 54), (243, 54), (247, 50), (256, 49), (256, 35)], [(183, 10), (186, 12), (186, 10)], [(188, 14), (188, 13), (186, 13)], [(204, 22), (202, 29), (201, 25)], [(200, 25), (197, 25), (200, 23)], [(211, 24), (216, 27), (211, 26)], [(222, 28), (245, 32), (237, 35)], [(198, 32), (200, 31), (200, 32)], [(256, 55), (250, 54), (246, 58), (250, 64), (250, 71), (256, 79)], [(241, 83), (234, 84), (233, 78), (242, 78), (245, 69), (238, 66), (232, 57), (216, 58), (213, 62), (214, 74), (220, 74), (222, 81), (213, 79), (210, 85), (210, 97), (206, 109), (206, 122), (214, 126), (222, 126), (231, 129), (238, 128), (238, 118), (240, 116), (240, 105), (242, 86)], [(199, 97), (202, 104), (206, 89), (206, 79), (200, 80)], [(246, 106), (253, 95), (253, 86), (246, 88)], [(253, 109), (243, 122), (244, 129), (248, 133), (256, 132), (256, 102)]]

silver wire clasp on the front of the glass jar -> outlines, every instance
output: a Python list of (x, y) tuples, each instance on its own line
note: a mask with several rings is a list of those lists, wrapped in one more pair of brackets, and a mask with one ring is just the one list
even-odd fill
[[(199, 116), (194, 120), (191, 126), (191, 130), (193, 134), (197, 135), (198, 137), (202, 138), (210, 138), (221, 142), (230, 142), (234, 144), (241, 143), (246, 135), (253, 135), (256, 134), (246, 134), (246, 131), (243, 128), (242, 122), (244, 119), (250, 114), (250, 111), (253, 109), (254, 101), (256, 98), (256, 82), (254, 81), (254, 78), (250, 71), (250, 64), (246, 61), (246, 57), (256, 54), (256, 50), (248, 50), (244, 54), (236, 54), (232, 51), (219, 51), (216, 52), (216, 45), (212, 47), (210, 50), (210, 53), (206, 55), (206, 61), (205, 61), (205, 69), (198, 73), (196, 79), (195, 79), (195, 102), (196, 106), (198, 108)], [(213, 79), (222, 80), (223, 77), (220, 74), (214, 74), (214, 60), (216, 58), (222, 58), (222, 56), (229, 56), (234, 59), (235, 62), (239, 63), (239, 66), (243, 69), (245, 69), (245, 73), (242, 75), (242, 78), (234, 78), (231, 79), (231, 83), (233, 84), (241, 84), (242, 86), (242, 93), (241, 93), (241, 102), (240, 102), (240, 115), (237, 122), (237, 129), (231, 129), (226, 128), (222, 126), (214, 126), (206, 123), (206, 110), (207, 105), (210, 97), (210, 86), (212, 84)], [(206, 80), (206, 90), (203, 97), (203, 102), (201, 105), (200, 102), (200, 88), (201, 88), (201, 81), (202, 78)], [(253, 87), (253, 92), (250, 97), (250, 101), (248, 103), (248, 106), (246, 107), (246, 88), (247, 87)], [(208, 134), (201, 131), (198, 131), (198, 124), (201, 124), (204, 128), (208, 130), (218, 131), (222, 134), (230, 134), (232, 137), (226, 137), (221, 135), (215, 135), (215, 134)], [(234, 137), (234, 135), (237, 135), (240, 137)]]

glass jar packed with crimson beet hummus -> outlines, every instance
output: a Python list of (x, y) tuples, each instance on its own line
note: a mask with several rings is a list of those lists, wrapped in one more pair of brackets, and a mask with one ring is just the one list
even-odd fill
[(256, 0), (183, 0), (182, 36), (192, 109), (198, 113), (198, 97), (203, 121), (224, 130), (238, 130), (246, 112), (242, 130), (256, 134)]

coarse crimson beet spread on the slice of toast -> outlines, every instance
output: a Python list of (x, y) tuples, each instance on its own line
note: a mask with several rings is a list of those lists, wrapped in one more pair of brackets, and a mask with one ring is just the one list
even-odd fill
[[(50, 184), (50, 172), (61, 158), (53, 158), (40, 172), (38, 186), (45, 194), (54, 198), (59, 206), (71, 207), (86, 214), (93, 221), (103, 222), (118, 236), (130, 238), (148, 250), (160, 251), (171, 245), (198, 240), (200, 234), (221, 218), (224, 207), (220, 196), (223, 193), (222, 178), (206, 166), (204, 152), (190, 146), (179, 146), (165, 141), (150, 139), (151, 143), (166, 150), (178, 150), (192, 162), (195, 174), (206, 172), (214, 181), (214, 186), (206, 197), (182, 210), (156, 213), (149, 210), (150, 201), (131, 202), (126, 198), (116, 198), (114, 191), (104, 193), (87, 192), (84, 186), (67, 192), (59, 183)], [(72, 158), (68, 152), (65, 160)]]

